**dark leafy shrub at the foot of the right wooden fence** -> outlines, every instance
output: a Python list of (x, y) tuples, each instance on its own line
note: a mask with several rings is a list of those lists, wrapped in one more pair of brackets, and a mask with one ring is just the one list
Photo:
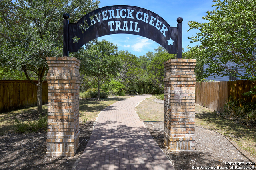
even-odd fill
[(244, 100), (234, 100), (230, 98), (224, 104), (224, 112), (220, 116), (237, 121), (246, 125), (256, 125), (256, 101), (246, 103)]

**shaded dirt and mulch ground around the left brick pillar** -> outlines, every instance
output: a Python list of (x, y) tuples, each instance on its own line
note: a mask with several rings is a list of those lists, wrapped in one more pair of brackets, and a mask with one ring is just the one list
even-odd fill
[(75, 156), (46, 156), (45, 131), (9, 133), (0, 137), (1, 170), (72, 170), (92, 133), (93, 121), (80, 124), (80, 146)]

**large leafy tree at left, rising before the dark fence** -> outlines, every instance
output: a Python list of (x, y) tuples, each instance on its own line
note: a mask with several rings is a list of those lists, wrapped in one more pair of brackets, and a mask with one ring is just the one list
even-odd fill
[(0, 4), (0, 63), (6, 70), (22, 70), (32, 82), (38, 77), (38, 114), (42, 113), (42, 81), (48, 66), (46, 57), (62, 57), (63, 19), (75, 22), (98, 8), (92, 0), (2, 0)]

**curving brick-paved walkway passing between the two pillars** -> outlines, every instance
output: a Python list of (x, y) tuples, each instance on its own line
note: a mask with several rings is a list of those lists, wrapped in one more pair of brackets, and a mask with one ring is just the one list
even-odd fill
[(76, 170), (174, 170), (135, 112), (136, 104), (150, 96), (140, 95), (106, 107)]

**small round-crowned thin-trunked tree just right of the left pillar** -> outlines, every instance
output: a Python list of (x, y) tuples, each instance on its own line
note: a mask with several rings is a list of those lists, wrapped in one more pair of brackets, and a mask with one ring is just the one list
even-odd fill
[(89, 42), (86, 49), (74, 54), (80, 61), (80, 72), (87, 76), (94, 76), (97, 81), (98, 95), (100, 100), (100, 80), (116, 75), (120, 71), (120, 62), (117, 57), (116, 45), (109, 41)]

